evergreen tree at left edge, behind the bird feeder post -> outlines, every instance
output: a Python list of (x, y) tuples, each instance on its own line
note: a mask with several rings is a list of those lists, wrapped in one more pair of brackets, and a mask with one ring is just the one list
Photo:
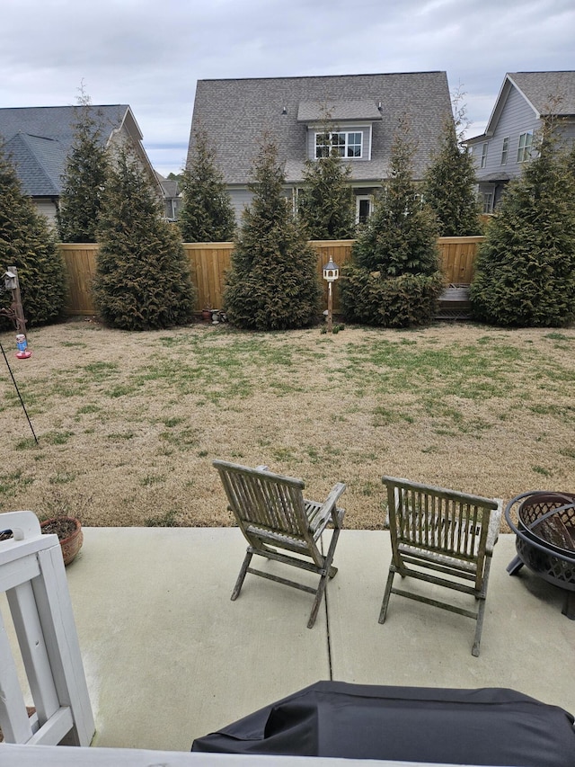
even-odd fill
[[(0, 143), (0, 273), (18, 270), (28, 327), (60, 319), (66, 301), (64, 262), (47, 219), (22, 192), (16, 170)], [(8, 308), (12, 293), (4, 293)], [(5, 323), (4, 323), (5, 324)]]

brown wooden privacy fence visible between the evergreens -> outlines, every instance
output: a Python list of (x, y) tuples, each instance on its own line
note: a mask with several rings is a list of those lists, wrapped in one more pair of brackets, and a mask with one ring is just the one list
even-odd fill
[[(473, 278), (477, 245), (482, 236), (439, 237), (441, 265), (448, 284), (468, 285)], [(317, 254), (317, 273), (322, 278), (323, 264), (330, 258), (343, 266), (351, 258), (353, 240), (314, 240), (310, 243)], [(96, 243), (66, 243), (59, 245), (66, 264), (68, 278), (68, 315), (93, 315), (92, 281), (96, 272)], [(196, 310), (205, 306), (221, 308), (224, 279), (234, 249), (233, 243), (184, 243), (190, 261), (191, 277), (198, 290)], [(322, 280), (324, 300), (327, 284)], [(333, 308), (339, 308), (339, 293), (335, 290)]]

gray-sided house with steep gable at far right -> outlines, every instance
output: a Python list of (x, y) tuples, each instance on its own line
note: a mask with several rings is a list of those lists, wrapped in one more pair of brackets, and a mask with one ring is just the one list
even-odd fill
[(556, 115), (562, 138), (575, 138), (575, 72), (511, 72), (501, 85), (485, 132), (467, 140), (483, 213), (492, 213), (510, 179), (521, 174), (541, 120)]

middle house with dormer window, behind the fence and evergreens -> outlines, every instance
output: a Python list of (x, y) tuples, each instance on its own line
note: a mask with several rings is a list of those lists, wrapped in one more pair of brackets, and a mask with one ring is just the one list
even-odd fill
[(329, 142), (350, 167), (356, 218), (363, 220), (388, 176), (399, 120), (405, 115), (410, 120), (417, 144), (413, 174), (419, 180), (446, 114), (451, 115), (451, 101), (445, 72), (199, 80), (188, 160), (201, 126), (239, 219), (251, 199), (252, 163), (266, 134), (278, 146), (294, 208), (305, 161), (324, 156)]

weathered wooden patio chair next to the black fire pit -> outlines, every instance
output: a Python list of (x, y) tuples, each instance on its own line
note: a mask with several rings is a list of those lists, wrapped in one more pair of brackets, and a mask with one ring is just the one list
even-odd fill
[[(393, 559), (379, 622), (385, 621), (392, 593), (465, 615), (477, 621), (472, 654), (479, 656), (501, 502), (397, 477), (382, 477), (382, 481), (387, 488)], [(394, 588), (396, 573), (472, 594), (476, 610)]]

